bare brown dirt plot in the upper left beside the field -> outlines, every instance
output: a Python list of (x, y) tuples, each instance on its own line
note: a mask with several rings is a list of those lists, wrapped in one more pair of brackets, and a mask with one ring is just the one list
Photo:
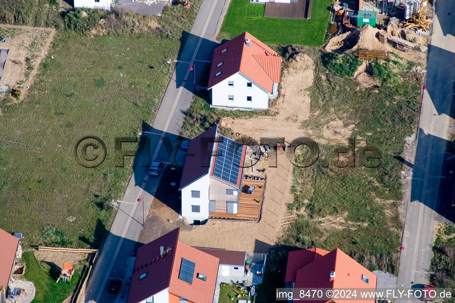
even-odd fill
[(0, 42), (1, 48), (9, 49), (1, 84), (12, 88), (20, 85), (23, 99), (27, 87), (33, 84), (38, 66), (46, 56), (45, 52), (49, 50), (55, 33), (56, 30), (52, 28), (0, 25), (0, 35), (13, 39), (12, 42)]

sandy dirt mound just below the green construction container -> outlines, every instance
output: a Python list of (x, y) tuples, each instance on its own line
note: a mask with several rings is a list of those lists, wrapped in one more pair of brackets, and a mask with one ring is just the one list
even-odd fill
[(352, 32), (332, 37), (324, 50), (327, 52), (344, 50), (390, 50), (388, 45), (382, 44), (376, 38), (378, 32), (378, 29), (365, 24)]

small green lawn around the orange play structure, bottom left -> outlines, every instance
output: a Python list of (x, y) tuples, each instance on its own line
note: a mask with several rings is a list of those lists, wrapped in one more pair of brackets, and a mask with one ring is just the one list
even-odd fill
[(77, 282), (81, 278), (83, 265), (75, 264), (75, 273), (70, 285), (69, 283), (56, 283), (58, 273), (51, 273), (51, 275), (45, 273), (40, 268), (33, 252), (23, 253), (22, 261), (27, 265), (24, 274), (25, 280), (33, 282), (36, 288), (32, 303), (61, 303), (74, 292)]

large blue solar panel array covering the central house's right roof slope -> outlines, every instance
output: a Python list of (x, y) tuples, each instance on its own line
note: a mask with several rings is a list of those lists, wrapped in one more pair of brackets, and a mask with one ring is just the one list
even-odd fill
[(242, 144), (224, 136), (220, 136), (219, 141), (213, 175), (229, 183), (237, 184), (242, 161)]

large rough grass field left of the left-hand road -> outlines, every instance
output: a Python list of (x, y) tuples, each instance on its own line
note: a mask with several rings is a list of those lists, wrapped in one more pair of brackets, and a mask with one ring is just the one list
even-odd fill
[[(0, 205), (9, 210), (0, 213), (0, 228), (25, 233), (23, 244), (101, 245), (115, 214), (104, 202), (121, 198), (131, 174), (132, 157), (115, 167), (114, 139), (134, 137), (152, 122), (172, 73), (164, 62), (177, 56), (198, 5), (168, 6), (156, 17), (161, 32), (57, 31), (27, 98), (0, 101)], [(96, 169), (74, 156), (87, 135), (106, 144)]]

